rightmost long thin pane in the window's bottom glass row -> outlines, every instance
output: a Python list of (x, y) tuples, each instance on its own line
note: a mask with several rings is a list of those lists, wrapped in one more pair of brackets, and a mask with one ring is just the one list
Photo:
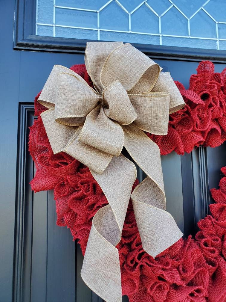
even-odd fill
[(180, 37), (162, 37), (162, 45), (182, 46), (194, 48), (217, 49), (217, 40), (180, 38)]

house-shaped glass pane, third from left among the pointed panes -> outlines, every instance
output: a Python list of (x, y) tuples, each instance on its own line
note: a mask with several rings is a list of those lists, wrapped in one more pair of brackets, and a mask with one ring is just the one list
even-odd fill
[(162, 17), (162, 34), (187, 36), (187, 19), (175, 8), (172, 7)]

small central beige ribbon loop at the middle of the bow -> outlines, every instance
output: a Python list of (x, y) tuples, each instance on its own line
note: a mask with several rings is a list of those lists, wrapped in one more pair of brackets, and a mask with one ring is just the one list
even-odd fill
[(108, 85), (102, 92), (103, 110), (107, 117), (121, 125), (129, 125), (137, 118), (130, 98), (117, 80)]

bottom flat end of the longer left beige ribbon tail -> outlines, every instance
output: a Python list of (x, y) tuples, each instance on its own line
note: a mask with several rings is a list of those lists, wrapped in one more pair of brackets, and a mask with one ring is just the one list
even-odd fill
[(94, 225), (90, 230), (81, 277), (103, 300), (122, 301), (118, 250), (97, 232)]

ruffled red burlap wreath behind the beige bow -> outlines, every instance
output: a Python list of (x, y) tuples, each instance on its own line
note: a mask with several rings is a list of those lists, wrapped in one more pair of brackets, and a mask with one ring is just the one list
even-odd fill
[[(225, 140), (226, 92), (222, 81), (226, 71), (213, 74), (212, 66), (210, 62), (200, 63), (198, 75), (191, 76), (190, 90), (182, 89), (177, 83), (186, 107), (171, 114), (170, 130), (165, 138), (152, 136), (162, 154), (174, 149), (182, 154), (199, 143), (218, 146)], [(71, 69), (92, 85), (84, 65)], [(37, 97), (38, 118), (30, 128), (29, 137), (29, 151), (37, 168), (31, 187), (35, 192), (54, 189), (57, 225), (70, 228), (84, 254), (92, 218), (107, 200), (86, 166), (66, 153), (53, 155), (40, 117), (46, 108), (37, 103)], [(226, 167), (221, 171), (226, 175)], [(134, 188), (137, 184), (138, 181)], [(216, 204), (210, 205), (212, 215), (199, 221), (200, 231), (195, 239), (191, 236), (180, 239), (155, 259), (142, 248), (132, 204), (129, 204), (117, 248), (122, 292), (129, 296), (130, 302), (226, 301), (226, 177), (221, 179), (220, 189), (212, 189), (211, 193)]]

